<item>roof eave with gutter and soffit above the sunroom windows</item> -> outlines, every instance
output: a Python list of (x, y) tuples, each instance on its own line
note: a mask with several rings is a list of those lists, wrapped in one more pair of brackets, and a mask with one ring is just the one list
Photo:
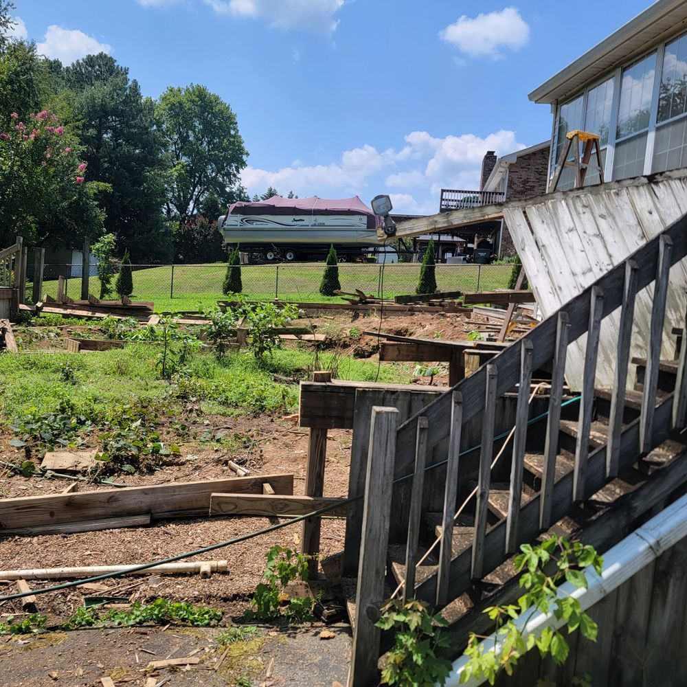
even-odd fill
[[(687, 27), (687, 0), (658, 0), (534, 89), (529, 98), (537, 103), (565, 100), (612, 69), (640, 56), (681, 25)], [(570, 34), (568, 38), (572, 40), (574, 36)]]

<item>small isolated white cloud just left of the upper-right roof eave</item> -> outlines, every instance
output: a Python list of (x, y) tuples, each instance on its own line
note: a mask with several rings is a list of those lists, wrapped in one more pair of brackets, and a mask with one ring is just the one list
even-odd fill
[(501, 47), (517, 50), (527, 45), (530, 27), (517, 8), (507, 7), (500, 12), (477, 14), (474, 18), (463, 15), (441, 30), (439, 36), (472, 57), (498, 58)]

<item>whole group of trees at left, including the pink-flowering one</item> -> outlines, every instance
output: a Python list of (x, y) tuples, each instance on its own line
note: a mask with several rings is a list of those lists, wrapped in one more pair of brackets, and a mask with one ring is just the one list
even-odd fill
[(0, 249), (21, 235), (104, 240), (134, 264), (223, 260), (216, 218), (259, 199), (240, 184), (248, 151), (229, 104), (197, 84), (149, 98), (104, 53), (45, 58), (9, 37), (13, 8), (0, 0)]

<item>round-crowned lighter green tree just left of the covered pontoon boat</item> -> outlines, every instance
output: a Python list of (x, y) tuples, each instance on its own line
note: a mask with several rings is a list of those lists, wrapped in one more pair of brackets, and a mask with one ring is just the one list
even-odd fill
[(248, 155), (236, 115), (205, 87), (168, 88), (155, 109), (168, 161), (166, 212), (181, 226), (214, 193), (229, 205)]

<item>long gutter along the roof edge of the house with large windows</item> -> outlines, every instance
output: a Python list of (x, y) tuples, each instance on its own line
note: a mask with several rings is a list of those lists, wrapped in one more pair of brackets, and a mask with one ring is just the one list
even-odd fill
[[(564, 89), (572, 78), (580, 76), (585, 70), (594, 67), (599, 60), (609, 55), (614, 50), (622, 49), (624, 46), (631, 45), (634, 38), (640, 37), (640, 35), (651, 28), (652, 25), (664, 18), (664, 16), (671, 14), (675, 10), (678, 10), (682, 6), (686, 6), (686, 0), (658, 0), (653, 3), (649, 8), (646, 8), (644, 12), (640, 12), (637, 16), (631, 19), (629, 22), (620, 27), (617, 31), (613, 32), (603, 41), (595, 45), (592, 49), (588, 50), (581, 57), (578, 57), (570, 65), (567, 65), (564, 69), (552, 76), (549, 80), (545, 81), (541, 86), (534, 89), (528, 98), (532, 102), (554, 102), (557, 98), (561, 98), (567, 93), (562, 93), (561, 89)], [(663, 32), (657, 33), (655, 36), (647, 36), (646, 41), (643, 41), (647, 45), (649, 42), (653, 41), (655, 38), (660, 36)], [(631, 51), (630, 51), (631, 52)], [(627, 55), (629, 57), (629, 54)], [(622, 62), (624, 58), (618, 56), (614, 58), (614, 63)], [(612, 66), (612, 65), (611, 65)], [(608, 67), (609, 69), (611, 67)], [(599, 76), (598, 71), (594, 74), (589, 75), (589, 80)], [(584, 79), (587, 81), (587, 79)]]

